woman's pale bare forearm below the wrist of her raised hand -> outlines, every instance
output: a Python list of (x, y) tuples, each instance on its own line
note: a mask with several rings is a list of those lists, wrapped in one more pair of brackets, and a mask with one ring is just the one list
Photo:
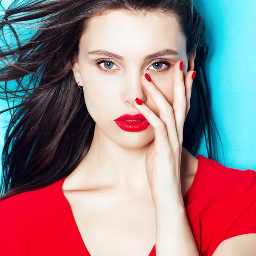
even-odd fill
[(156, 209), (156, 256), (199, 256), (184, 205)]

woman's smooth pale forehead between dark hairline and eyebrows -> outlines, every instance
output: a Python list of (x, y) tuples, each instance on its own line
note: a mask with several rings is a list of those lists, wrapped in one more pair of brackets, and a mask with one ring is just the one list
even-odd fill
[(131, 55), (132, 52), (137, 55), (144, 50), (146, 54), (148, 50), (164, 48), (180, 53), (186, 51), (186, 39), (174, 16), (160, 13), (133, 15), (125, 11), (93, 17), (81, 36), (80, 45), (88, 50), (105, 49), (120, 55)]

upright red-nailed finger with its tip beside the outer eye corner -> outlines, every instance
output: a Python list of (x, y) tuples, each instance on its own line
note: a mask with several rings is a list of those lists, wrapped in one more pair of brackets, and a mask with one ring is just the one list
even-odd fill
[(183, 78), (183, 61), (177, 61), (173, 69), (173, 112), (179, 145), (182, 145), (183, 127), (186, 114), (186, 89)]

